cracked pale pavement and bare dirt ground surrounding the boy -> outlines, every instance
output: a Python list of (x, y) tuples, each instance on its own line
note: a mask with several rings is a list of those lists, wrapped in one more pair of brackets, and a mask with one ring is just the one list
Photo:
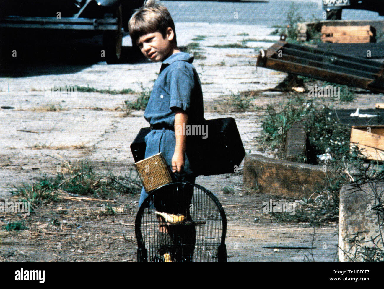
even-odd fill
[[(229, 29), (230, 27), (230, 29)], [(251, 25), (176, 23), (178, 44), (187, 45), (197, 35), (206, 59), (196, 59), (194, 65), (202, 82), (205, 118), (231, 116), (235, 118), (247, 153), (265, 151), (257, 137), (267, 104), (286, 101), (289, 93), (269, 91), (286, 74), (256, 68), (255, 48), (268, 48), (278, 40), (268, 36), (273, 28)], [(247, 33), (247, 36), (241, 36)], [(244, 38), (251, 48), (214, 48), (215, 44), (235, 43)], [(13, 185), (31, 184), (43, 174), (54, 176), (63, 160), (89, 160), (94, 169), (111, 169), (123, 175), (133, 164), (129, 145), (140, 128), (148, 126), (143, 111), (124, 116), (125, 100), (134, 100), (145, 88), (151, 88), (160, 65), (141, 58), (127, 56), (129, 37), (124, 38), (125, 63), (106, 65), (99, 61), (97, 45), (76, 48), (76, 60), (61, 47), (45, 50), (49, 61), (36, 60), (40, 48), (26, 49), (24, 58), (0, 66), (0, 199), (11, 200)], [(52, 48), (53, 49), (53, 48)], [(82, 61), (78, 61), (78, 59)], [(54, 86), (87, 86), (97, 89), (137, 91), (130, 95), (77, 92), (76, 95), (47, 93)], [(228, 104), (228, 97), (240, 91), (257, 91), (253, 103), (259, 109), (239, 113)], [(343, 108), (373, 108), (382, 102), (382, 95), (359, 94), (354, 103)], [(28, 132), (29, 131), (29, 132)], [(337, 224), (321, 228), (308, 224), (276, 223), (263, 213), (263, 201), (278, 197), (247, 191), (242, 184), (242, 165), (238, 173), (199, 176), (196, 183), (212, 191), (222, 203), (228, 219), (228, 262), (303, 262), (335, 260), (338, 242)], [(234, 186), (235, 194), (223, 193), (225, 186)], [(92, 198), (92, 196), (86, 196)], [(24, 220), (24, 231), (0, 231), (0, 261), (28, 262), (136, 262), (137, 243), (134, 218), (139, 196), (117, 195), (106, 201), (87, 200), (63, 195), (61, 201), (36, 209), (30, 216), (0, 214), (0, 225)], [(107, 214), (103, 204), (109, 204), (116, 214)], [(56, 221), (55, 221), (56, 220)], [(60, 225), (57, 225), (59, 224)], [(56, 224), (56, 225), (55, 225)], [(273, 249), (263, 246), (311, 246), (316, 249)], [(311, 254), (312, 253), (312, 254)], [(313, 256), (312, 256), (313, 255)], [(308, 256), (308, 257), (306, 257)], [(310, 260), (308, 259), (310, 258)], [(313, 258), (313, 259), (312, 259)]]

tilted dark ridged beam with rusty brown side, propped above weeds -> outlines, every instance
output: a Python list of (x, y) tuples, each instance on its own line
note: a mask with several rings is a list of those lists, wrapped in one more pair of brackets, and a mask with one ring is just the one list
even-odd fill
[(283, 41), (260, 50), (257, 66), (384, 93), (384, 65)]

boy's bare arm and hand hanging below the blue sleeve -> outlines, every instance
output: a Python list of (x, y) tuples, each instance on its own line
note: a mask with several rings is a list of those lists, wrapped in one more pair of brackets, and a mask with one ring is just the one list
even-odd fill
[(183, 125), (188, 123), (188, 115), (181, 108), (174, 107), (175, 112), (175, 136), (176, 145), (175, 152), (172, 156), (172, 172), (182, 173), (185, 164), (185, 147), (187, 144), (187, 137), (183, 134)]

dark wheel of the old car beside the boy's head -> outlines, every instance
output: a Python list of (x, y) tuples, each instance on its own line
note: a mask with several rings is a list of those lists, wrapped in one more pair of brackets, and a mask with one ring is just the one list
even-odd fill
[(105, 58), (108, 64), (116, 64), (121, 60), (122, 48), (122, 6), (116, 9), (115, 15), (118, 19), (118, 29), (116, 31), (106, 31), (103, 36), (103, 47), (105, 50)]

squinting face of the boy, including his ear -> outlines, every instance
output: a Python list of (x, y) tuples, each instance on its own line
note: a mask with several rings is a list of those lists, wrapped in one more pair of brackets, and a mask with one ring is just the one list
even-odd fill
[(142, 35), (137, 39), (137, 46), (142, 54), (153, 62), (159, 62), (167, 58), (172, 50), (173, 30), (168, 28), (164, 39), (160, 32), (153, 32)]

